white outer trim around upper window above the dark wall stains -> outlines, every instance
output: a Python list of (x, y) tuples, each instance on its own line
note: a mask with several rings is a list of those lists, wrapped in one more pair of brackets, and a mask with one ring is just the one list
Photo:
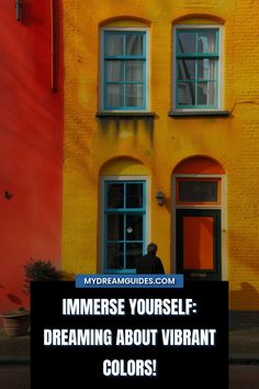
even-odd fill
[[(105, 31), (143, 31), (146, 33), (146, 109), (145, 110), (105, 110), (104, 109), (104, 92), (103, 92), (103, 40)], [(99, 109), (101, 112), (116, 112), (116, 113), (125, 113), (125, 112), (149, 112), (150, 110), (150, 42), (149, 42), (149, 29), (148, 27), (102, 27), (100, 30), (99, 35)]]

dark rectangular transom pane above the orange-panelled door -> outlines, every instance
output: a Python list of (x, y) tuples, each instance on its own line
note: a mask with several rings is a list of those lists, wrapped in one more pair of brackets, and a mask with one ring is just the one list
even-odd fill
[(217, 202), (217, 181), (179, 181), (179, 201)]

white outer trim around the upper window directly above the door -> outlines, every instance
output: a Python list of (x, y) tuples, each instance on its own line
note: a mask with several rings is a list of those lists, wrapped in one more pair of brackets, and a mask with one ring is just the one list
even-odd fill
[[(218, 30), (218, 41), (219, 41), (219, 64), (218, 64), (218, 93), (217, 93), (217, 108), (177, 108), (176, 101), (176, 88), (177, 88), (177, 80), (176, 80), (176, 54), (177, 54), (177, 30), (180, 29), (217, 29)], [(171, 69), (171, 79), (172, 79), (172, 88), (171, 88), (171, 105), (172, 110), (176, 112), (217, 112), (222, 111), (225, 107), (224, 102), (224, 27), (223, 25), (218, 24), (176, 24), (172, 27), (172, 69)]]

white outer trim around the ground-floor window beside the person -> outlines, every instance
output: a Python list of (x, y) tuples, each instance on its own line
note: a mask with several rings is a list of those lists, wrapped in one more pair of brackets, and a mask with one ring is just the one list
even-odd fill
[(145, 241), (150, 238), (150, 177), (149, 176), (101, 176), (99, 191), (99, 244), (98, 244), (98, 274), (104, 271), (104, 186), (105, 181), (145, 181), (146, 182), (146, 236)]

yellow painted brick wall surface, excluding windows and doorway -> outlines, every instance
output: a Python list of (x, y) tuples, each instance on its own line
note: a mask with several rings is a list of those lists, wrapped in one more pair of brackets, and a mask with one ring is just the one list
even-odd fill
[[(224, 268), (229, 308), (259, 309), (259, 2), (249, 0), (64, 1), (65, 141), (63, 267), (100, 269), (101, 176), (149, 177), (149, 241), (173, 273), (173, 168), (207, 156), (226, 173)], [(228, 116), (171, 118), (172, 26), (223, 29), (223, 110)], [(150, 118), (97, 118), (100, 29), (149, 30)], [(161, 190), (166, 204), (155, 194)]]

